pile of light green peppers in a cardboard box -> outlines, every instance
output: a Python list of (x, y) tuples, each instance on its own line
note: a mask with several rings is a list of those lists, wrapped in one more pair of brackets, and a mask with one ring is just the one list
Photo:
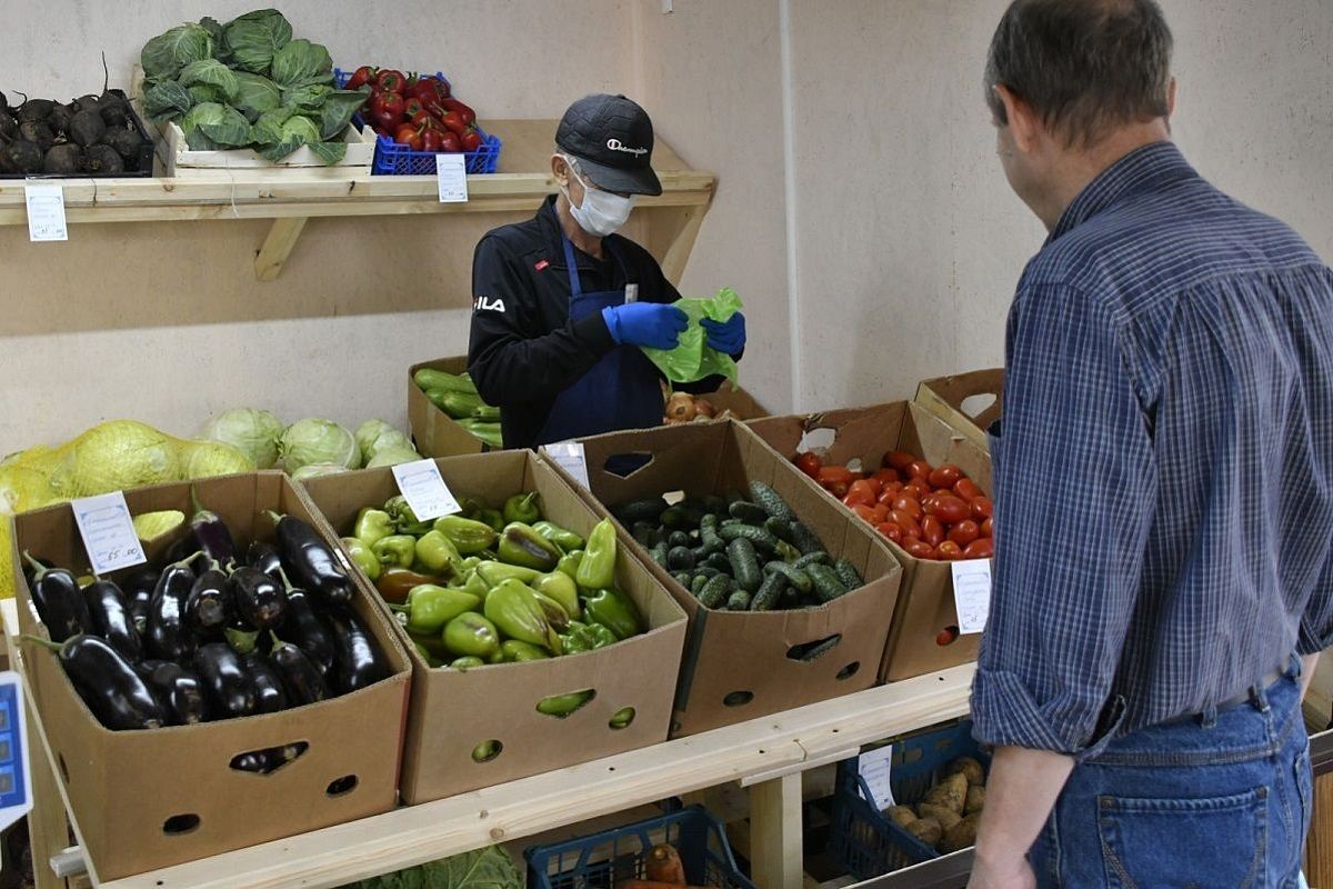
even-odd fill
[(536, 492), (420, 521), (403, 497), (361, 509), (343, 545), (431, 666), (469, 669), (591, 652), (644, 632), (616, 589), (616, 528), (585, 541), (543, 520)]

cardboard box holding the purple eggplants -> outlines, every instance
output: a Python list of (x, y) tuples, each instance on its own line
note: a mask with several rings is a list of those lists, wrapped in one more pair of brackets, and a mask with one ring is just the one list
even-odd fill
[[(193, 482), (239, 545), (271, 540), (273, 509), (317, 524), (280, 472)], [(191, 513), (189, 484), (125, 492), (132, 513)], [(15, 552), (24, 549), (81, 573), (87, 556), (68, 504), (15, 516)], [(181, 529), (184, 533), (184, 528)], [(17, 562), (16, 562), (17, 564)], [(15, 570), (24, 633), (49, 638)], [(368, 597), (356, 612), (393, 674), (375, 685), (281, 713), (145, 732), (101, 726), (53, 652), (21, 642), (33, 705), (41, 717), (87, 852), (100, 880), (192, 861), (388, 812), (397, 796), (409, 662), (389, 622)], [(305, 741), (305, 753), (269, 774), (231, 768), (232, 757)], [(337, 792), (341, 784), (352, 788)], [(332, 789), (331, 789), (332, 788)], [(49, 805), (49, 801), (48, 801)], [(179, 832), (168, 832), (179, 829)]]

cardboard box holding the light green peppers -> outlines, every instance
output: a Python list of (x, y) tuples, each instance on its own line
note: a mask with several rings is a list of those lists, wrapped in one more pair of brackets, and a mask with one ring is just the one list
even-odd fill
[[(511, 494), (537, 490), (544, 514), (584, 537), (604, 516), (531, 450), (451, 457), (436, 465), (456, 497), (499, 506)], [(312, 478), (305, 488), (331, 529), (340, 533), (351, 532), (363, 506), (377, 506), (399, 493), (389, 469)], [(369, 589), (365, 574), (356, 576)], [(616, 584), (633, 597), (649, 629), (604, 649), (459, 672), (431, 669), (408, 646), (415, 680), (400, 785), (407, 802), (439, 800), (666, 740), (685, 614), (635, 558), (617, 560)], [(596, 690), (596, 697), (564, 718), (536, 710), (544, 697), (583, 689)], [(611, 717), (625, 706), (635, 708), (633, 721), (612, 729)], [(472, 752), (483, 741), (503, 746), (493, 760), (476, 762)]]

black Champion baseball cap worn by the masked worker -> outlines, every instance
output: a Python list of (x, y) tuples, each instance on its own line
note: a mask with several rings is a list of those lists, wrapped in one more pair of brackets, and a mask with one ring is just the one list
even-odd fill
[(624, 96), (584, 96), (560, 119), (556, 145), (579, 159), (597, 187), (627, 195), (661, 195), (653, 172), (653, 121)]

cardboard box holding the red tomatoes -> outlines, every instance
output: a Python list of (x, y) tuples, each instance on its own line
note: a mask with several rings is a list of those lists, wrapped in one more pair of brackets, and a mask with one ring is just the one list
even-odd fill
[[(894, 401), (870, 408), (769, 417), (750, 424), (750, 429), (786, 460), (808, 449), (801, 445), (802, 439), (818, 429), (826, 432), (812, 436), (812, 440), (833, 436), (832, 444), (825, 445), (825, 462), (845, 464), (860, 460), (862, 466), (877, 469), (885, 453), (909, 450), (932, 465), (941, 462), (957, 465), (982, 490), (990, 492), (990, 457), (986, 452), (961, 432), (950, 429), (920, 404)], [(949, 645), (936, 644), (940, 630), (958, 624), (949, 562), (908, 556), (901, 546), (857, 518), (813, 478), (808, 476), (801, 478), (809, 490), (817, 492), (826, 502), (888, 542), (893, 548), (893, 554), (902, 562), (902, 592), (893, 616), (881, 677), (893, 682), (977, 660), (980, 634), (960, 636)]]

